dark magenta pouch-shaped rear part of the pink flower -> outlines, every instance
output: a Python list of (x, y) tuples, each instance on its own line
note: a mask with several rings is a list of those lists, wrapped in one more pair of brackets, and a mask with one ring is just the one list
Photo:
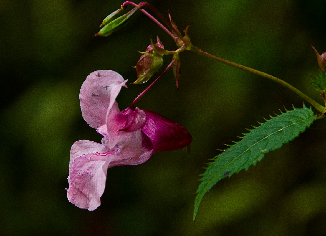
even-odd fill
[(181, 149), (191, 143), (192, 137), (185, 127), (156, 112), (143, 111), (146, 123), (141, 130), (151, 140), (153, 152)]

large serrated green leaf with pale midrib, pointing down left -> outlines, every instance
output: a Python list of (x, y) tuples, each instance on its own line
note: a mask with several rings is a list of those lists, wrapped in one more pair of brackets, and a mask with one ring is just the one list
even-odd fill
[(316, 117), (317, 115), (305, 106), (299, 109), (293, 107), (293, 111), (286, 110), (280, 115), (271, 116), (270, 120), (266, 120), (258, 127), (253, 126), (254, 129), (244, 134), (242, 140), (212, 158), (213, 162), (208, 163), (206, 171), (201, 174), (203, 177), (199, 180), (201, 183), (196, 192), (193, 219), (195, 220), (205, 193), (218, 181), (243, 169), (248, 170), (251, 165), (256, 165), (265, 153), (280, 148), (284, 143), (288, 143), (304, 132)]

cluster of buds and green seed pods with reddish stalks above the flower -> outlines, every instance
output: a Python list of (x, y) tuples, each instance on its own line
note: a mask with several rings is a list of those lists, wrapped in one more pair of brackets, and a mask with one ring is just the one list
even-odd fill
[[(127, 12), (126, 14), (119, 16), (123, 10), (126, 9), (128, 5), (132, 5), (134, 8)], [(153, 10), (156, 15), (165, 22), (170, 30), (168, 30), (164, 25), (162, 25), (160, 22), (158, 22), (152, 15), (150, 15), (148, 12), (146, 12), (143, 7), (149, 7), (151, 10)], [(112, 12), (109, 16), (107, 16), (100, 27), (102, 29), (95, 35), (95, 36), (109, 36), (114, 31), (120, 29), (123, 27), (126, 22), (131, 18), (134, 13), (140, 10), (145, 15), (147, 15), (150, 19), (152, 19), (154, 22), (156, 22), (163, 30), (165, 30), (175, 41), (176, 46), (178, 47), (178, 50), (176, 51), (167, 51), (164, 49), (164, 46), (162, 42), (159, 40), (158, 36), (157, 43), (154, 44), (151, 38), (151, 44), (147, 47), (145, 52), (140, 52), (143, 55), (140, 57), (139, 61), (137, 62), (136, 66), (134, 68), (137, 72), (137, 80), (133, 82), (132, 84), (138, 84), (138, 83), (145, 83), (147, 82), (163, 65), (163, 56), (168, 54), (173, 54), (172, 61), (170, 65), (166, 68), (166, 70), (170, 69), (170, 67), (173, 68), (173, 75), (175, 78), (177, 89), (179, 89), (178, 82), (180, 79), (180, 57), (179, 53), (184, 50), (189, 50), (191, 47), (190, 38), (188, 36), (188, 27), (184, 30), (184, 36), (179, 31), (176, 24), (172, 21), (171, 15), (169, 12), (169, 20), (166, 20), (164, 16), (159, 13), (155, 7), (153, 7), (151, 4), (146, 2), (141, 2), (140, 4), (135, 4), (133, 2), (125, 2), (122, 4), (122, 6)], [(164, 72), (165, 73), (165, 72)], [(160, 78), (164, 73), (162, 73), (159, 77)]]

